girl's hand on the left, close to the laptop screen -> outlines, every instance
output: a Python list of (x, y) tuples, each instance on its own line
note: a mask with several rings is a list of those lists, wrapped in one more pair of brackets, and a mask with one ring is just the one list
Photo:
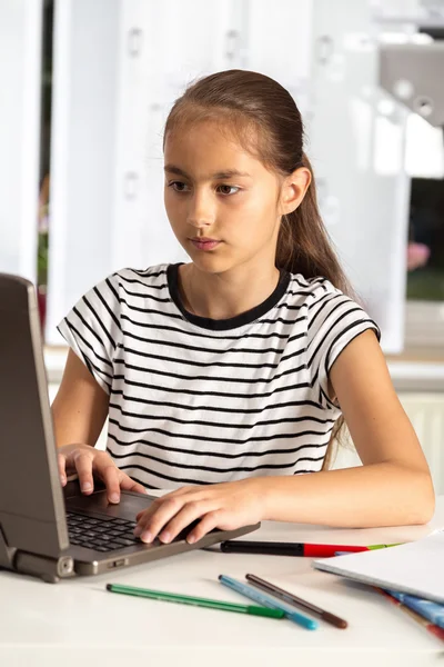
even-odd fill
[(145, 494), (145, 488), (119, 470), (107, 451), (90, 445), (64, 445), (58, 449), (59, 475), (62, 486), (67, 484), (67, 475), (77, 472), (82, 494), (89, 496), (94, 490), (94, 476), (107, 487), (108, 500), (120, 501), (120, 489)]

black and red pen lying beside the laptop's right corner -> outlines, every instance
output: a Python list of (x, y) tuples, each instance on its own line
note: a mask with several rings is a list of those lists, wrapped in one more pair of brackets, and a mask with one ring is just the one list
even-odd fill
[(224, 554), (263, 554), (269, 556), (307, 556), (311, 558), (322, 558), (334, 556), (335, 551), (372, 551), (373, 549), (383, 549), (397, 545), (312, 545), (304, 542), (273, 542), (273, 541), (253, 541), (233, 539), (221, 542), (221, 551)]

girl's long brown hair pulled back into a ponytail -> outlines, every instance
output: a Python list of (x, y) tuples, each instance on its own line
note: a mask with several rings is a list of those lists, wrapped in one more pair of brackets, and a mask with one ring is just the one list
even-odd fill
[[(276, 267), (305, 278), (322, 276), (354, 297), (317, 208), (313, 170), (303, 151), (303, 122), (289, 91), (259, 72), (226, 70), (210, 74), (189, 86), (174, 102), (163, 137), (202, 120), (213, 120), (221, 132), (234, 135), (241, 146), (281, 177), (301, 167), (310, 170), (312, 180), (302, 202), (281, 218)], [(343, 425), (341, 416), (333, 427), (323, 468), (330, 466), (331, 446), (339, 440)]]

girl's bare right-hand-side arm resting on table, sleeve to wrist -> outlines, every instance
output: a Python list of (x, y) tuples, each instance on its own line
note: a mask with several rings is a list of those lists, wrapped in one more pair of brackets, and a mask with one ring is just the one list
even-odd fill
[(363, 466), (263, 478), (263, 518), (344, 527), (428, 521), (434, 511), (428, 466), (373, 331), (347, 345), (330, 381)]

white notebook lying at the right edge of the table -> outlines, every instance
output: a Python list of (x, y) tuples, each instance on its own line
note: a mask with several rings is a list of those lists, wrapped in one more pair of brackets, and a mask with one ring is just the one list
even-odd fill
[(313, 560), (315, 569), (444, 604), (444, 530), (414, 542)]

